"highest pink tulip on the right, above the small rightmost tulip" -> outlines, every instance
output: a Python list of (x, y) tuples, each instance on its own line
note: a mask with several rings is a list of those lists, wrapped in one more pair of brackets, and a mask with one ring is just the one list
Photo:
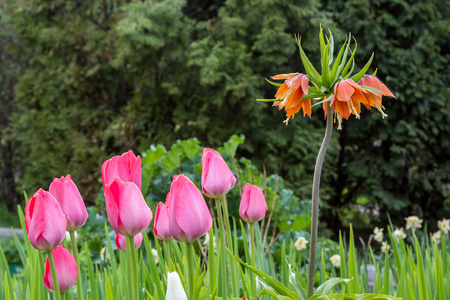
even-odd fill
[(205, 148), (202, 155), (202, 189), (210, 198), (225, 196), (234, 187), (236, 177), (219, 152)]

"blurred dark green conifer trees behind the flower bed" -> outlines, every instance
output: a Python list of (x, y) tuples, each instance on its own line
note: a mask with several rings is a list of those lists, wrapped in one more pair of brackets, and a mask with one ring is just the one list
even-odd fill
[(322, 220), (336, 232), (415, 214), (436, 230), (450, 214), (450, 5), (440, 0), (0, 1), (1, 206), (68, 173), (94, 204), (105, 159), (191, 137), (218, 147), (233, 134), (245, 135), (237, 157), (309, 199), (323, 112), (286, 126), (255, 99), (275, 94), (265, 77), (304, 72), (294, 34), (317, 64), (320, 24), (336, 44), (355, 36), (355, 69), (375, 52), (369, 71), (397, 96), (383, 102), (388, 118), (363, 108), (334, 131)]

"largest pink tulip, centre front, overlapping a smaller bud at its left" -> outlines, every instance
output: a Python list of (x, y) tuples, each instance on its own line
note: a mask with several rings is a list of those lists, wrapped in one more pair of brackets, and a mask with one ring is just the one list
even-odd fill
[(186, 176), (173, 177), (169, 203), (170, 233), (177, 241), (192, 243), (211, 228), (211, 213), (205, 199)]

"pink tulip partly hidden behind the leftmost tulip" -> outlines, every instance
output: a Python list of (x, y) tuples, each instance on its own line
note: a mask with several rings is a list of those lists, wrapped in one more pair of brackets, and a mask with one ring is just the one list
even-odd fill
[(50, 193), (66, 215), (67, 231), (75, 231), (86, 223), (88, 217), (86, 206), (70, 175), (53, 179)]

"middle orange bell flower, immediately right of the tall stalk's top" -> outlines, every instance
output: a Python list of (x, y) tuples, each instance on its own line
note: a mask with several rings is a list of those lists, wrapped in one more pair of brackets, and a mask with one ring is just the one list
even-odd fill
[[(359, 87), (352, 79), (339, 81), (334, 86), (334, 94), (331, 97), (330, 104), (333, 106), (333, 113), (338, 120), (338, 129), (342, 129), (342, 118), (346, 120), (351, 114), (359, 118), (361, 113), (361, 103), (369, 105), (365, 95), (368, 92)], [(323, 104), (323, 110), (326, 116), (326, 103)]]

